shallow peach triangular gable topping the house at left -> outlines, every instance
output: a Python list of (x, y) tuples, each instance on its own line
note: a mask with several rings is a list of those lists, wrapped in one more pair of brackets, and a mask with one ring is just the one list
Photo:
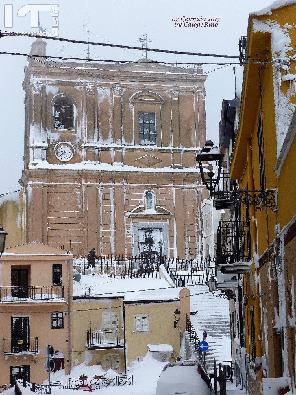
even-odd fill
[(30, 243), (21, 244), (14, 247), (5, 248), (2, 256), (17, 254), (17, 255), (64, 255), (67, 250), (62, 250), (58, 247), (49, 246), (47, 244), (39, 243), (38, 241), (31, 241)]

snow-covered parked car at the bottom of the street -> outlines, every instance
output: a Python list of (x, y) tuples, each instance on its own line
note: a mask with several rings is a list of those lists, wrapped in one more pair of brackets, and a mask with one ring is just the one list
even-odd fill
[(163, 368), (156, 395), (214, 395), (211, 380), (197, 361), (176, 361)]

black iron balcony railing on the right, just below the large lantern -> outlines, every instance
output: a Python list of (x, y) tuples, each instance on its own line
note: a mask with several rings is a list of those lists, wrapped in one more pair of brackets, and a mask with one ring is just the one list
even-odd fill
[(250, 220), (220, 221), (217, 229), (217, 265), (251, 259)]

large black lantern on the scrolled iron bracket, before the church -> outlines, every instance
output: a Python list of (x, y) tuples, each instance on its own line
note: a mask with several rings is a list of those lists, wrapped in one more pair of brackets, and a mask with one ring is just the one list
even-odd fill
[[(199, 154), (196, 156), (196, 160), (199, 163), (199, 170), (200, 170), (200, 177), (202, 179), (202, 183), (206, 186), (206, 188), (210, 191), (210, 197), (212, 198), (213, 196), (213, 191), (215, 189), (215, 186), (218, 184), (220, 180), (220, 174), (221, 174), (221, 167), (222, 167), (222, 160), (223, 160), (224, 154), (221, 154), (219, 149), (217, 147), (214, 147), (214, 143), (212, 140), (207, 140), (204, 147), (202, 147), (202, 150)], [(204, 169), (202, 167), (202, 162), (208, 162), (208, 161), (216, 161), (217, 162), (217, 178), (214, 178), (214, 172), (213, 172), (213, 165), (209, 164), (209, 173), (208, 173), (208, 179), (205, 179), (204, 177)]]

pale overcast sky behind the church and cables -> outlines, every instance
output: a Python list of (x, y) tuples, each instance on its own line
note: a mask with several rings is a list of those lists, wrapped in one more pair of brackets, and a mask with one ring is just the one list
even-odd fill
[[(272, 3), (272, 0), (56, 0), (58, 4), (59, 37), (87, 40), (86, 28), (89, 10), (89, 24), (92, 41), (137, 46), (138, 38), (144, 33), (153, 40), (153, 48), (177, 51), (238, 55), (238, 41), (247, 31), (248, 14)], [(13, 28), (4, 27), (4, 4), (13, 4)], [(17, 17), (17, 11), (26, 4), (52, 4), (43, 0), (1, 1), (0, 29), (18, 32), (38, 32), (30, 26), (30, 13)], [(41, 26), (51, 31), (55, 23), (51, 12), (41, 12)], [(173, 18), (220, 17), (217, 27), (174, 26)], [(82, 36), (83, 34), (83, 36)], [(32, 38), (9, 37), (0, 39), (0, 51), (29, 53)], [(47, 40), (47, 54), (62, 55), (63, 43)], [(64, 55), (82, 57), (85, 46), (64, 43)], [(91, 57), (118, 60), (137, 60), (141, 51), (90, 47)], [(86, 56), (86, 55), (85, 55)], [(176, 56), (148, 52), (153, 60), (175, 61)], [(218, 58), (198, 58), (177, 55), (177, 61), (220, 62)], [(222, 60), (223, 61), (223, 60)], [(0, 193), (18, 189), (23, 168), (24, 154), (24, 56), (0, 55), (1, 123), (0, 123)], [(217, 67), (205, 65), (204, 71)], [(217, 143), (222, 99), (234, 97), (234, 73), (232, 66), (212, 71), (206, 81), (206, 127), (207, 137)]]

